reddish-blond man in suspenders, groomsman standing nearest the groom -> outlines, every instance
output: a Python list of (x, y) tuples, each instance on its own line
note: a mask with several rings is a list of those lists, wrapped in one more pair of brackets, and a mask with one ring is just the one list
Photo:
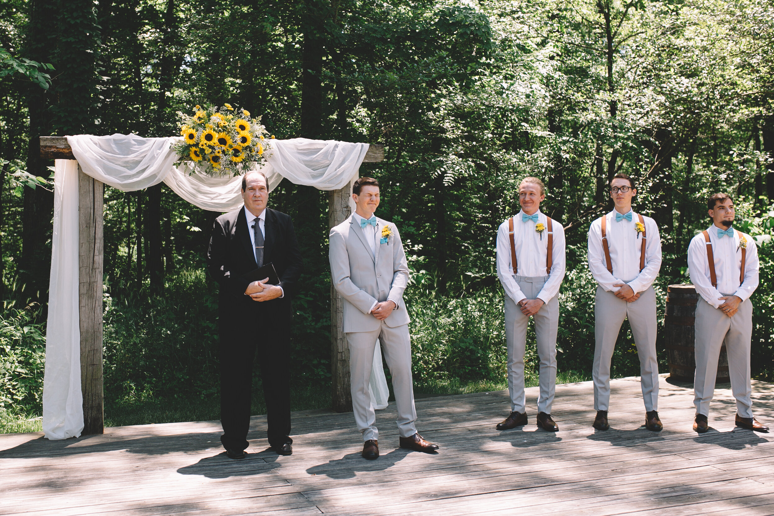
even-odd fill
[(497, 275), (505, 291), (505, 340), (508, 343), (508, 390), (511, 413), (498, 430), (527, 424), (524, 350), (529, 317), (535, 321), (540, 360), (537, 425), (557, 432), (551, 403), (557, 384), (559, 287), (564, 278), (564, 229), (540, 211), (546, 186), (536, 177), (519, 185), (522, 210), (497, 232)]

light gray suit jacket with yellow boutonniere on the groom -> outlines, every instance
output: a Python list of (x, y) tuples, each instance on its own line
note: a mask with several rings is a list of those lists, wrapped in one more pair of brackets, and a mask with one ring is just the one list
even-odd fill
[[(403, 291), (409, 283), (406, 253), (395, 224), (376, 218), (376, 255), (372, 255), (365, 232), (354, 214), (330, 230), (330, 275), (334, 288), (344, 298), (344, 333), (373, 331), (379, 321), (368, 313), (375, 301), (391, 299), (398, 308), (385, 319), (394, 328), (409, 323)], [(378, 235), (383, 227), (392, 234), (385, 244)]]

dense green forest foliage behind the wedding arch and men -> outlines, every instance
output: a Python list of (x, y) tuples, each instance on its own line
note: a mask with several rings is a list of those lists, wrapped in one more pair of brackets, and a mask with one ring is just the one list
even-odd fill
[[(688, 241), (708, 225), (706, 196), (735, 196), (762, 260), (754, 374), (774, 378), (770, 2), (8, 0), (0, 25), (9, 59), (54, 67), (40, 70), (52, 77), (48, 90), (0, 70), (6, 309), (46, 302), (51, 195), (26, 188), (22, 200), (6, 176), (13, 166), (48, 177), (38, 135), (171, 135), (175, 111), (231, 101), (263, 114), (277, 138), (385, 142), (385, 162), (361, 173), (382, 181), (379, 214), (399, 225), (415, 272), (406, 295), (420, 384), (502, 380), (495, 231), (519, 209), (527, 174), (546, 179), (544, 211), (567, 234), (559, 367), (590, 371), (586, 231), (610, 209), (605, 186), (616, 172), (638, 179), (635, 210), (659, 224), (662, 303), (666, 285), (687, 282)], [(110, 401), (211, 397), (217, 298), (203, 268), (217, 214), (165, 186), (108, 189), (105, 201)], [(293, 217), (305, 258), (294, 371), (300, 384), (324, 385), (327, 193), (283, 182), (270, 203)], [(3, 320), (29, 326), (19, 317)], [(25, 341), (9, 339), (3, 363), (18, 364)], [(626, 326), (613, 371), (639, 371)]]

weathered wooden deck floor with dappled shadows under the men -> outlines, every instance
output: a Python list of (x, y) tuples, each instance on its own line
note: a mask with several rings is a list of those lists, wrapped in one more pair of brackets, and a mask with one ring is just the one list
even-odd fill
[[(293, 456), (266, 449), (255, 417), (246, 460), (224, 456), (217, 422), (126, 426), (48, 441), (0, 436), (0, 514), (774, 514), (774, 434), (735, 429), (728, 384), (714, 428), (691, 431), (690, 385), (661, 379), (664, 430), (642, 426), (639, 381), (612, 382), (608, 432), (591, 428), (591, 382), (557, 386), (560, 432), (507, 432), (505, 391), (417, 400), (428, 455), (398, 448), (391, 405), (382, 456), (361, 459), (351, 413), (297, 412)], [(774, 384), (754, 382), (755, 414), (774, 422)]]

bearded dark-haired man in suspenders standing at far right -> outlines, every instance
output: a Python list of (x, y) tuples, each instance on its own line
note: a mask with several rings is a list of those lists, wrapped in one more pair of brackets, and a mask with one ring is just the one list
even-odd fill
[(696, 378), (694, 431), (707, 432), (717, 359), (725, 343), (731, 391), (736, 398), (736, 425), (768, 432), (752, 415), (750, 343), (752, 302), (758, 287), (758, 250), (748, 234), (735, 231), (731, 197), (715, 193), (707, 200), (713, 224), (688, 247), (690, 280), (701, 298), (696, 304)]

